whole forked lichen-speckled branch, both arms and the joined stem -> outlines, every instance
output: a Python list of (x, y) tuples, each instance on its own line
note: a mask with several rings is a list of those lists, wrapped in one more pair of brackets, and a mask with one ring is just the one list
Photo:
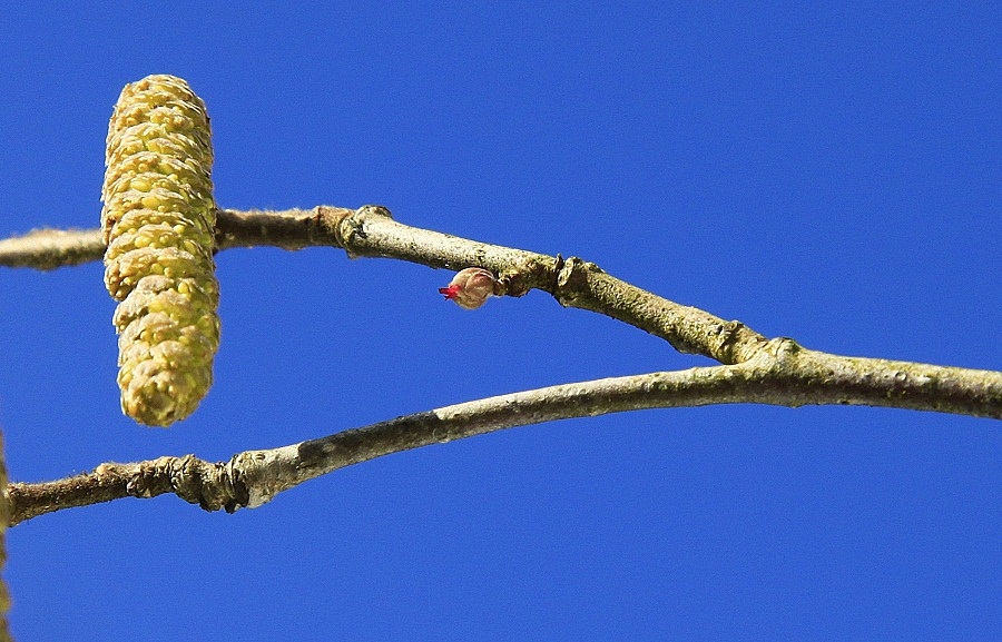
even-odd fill
[[(561, 418), (642, 408), (756, 403), (870, 405), (1002, 418), (1002, 373), (831, 355), (788, 338), (767, 339), (739, 322), (682, 306), (617, 279), (591, 263), (478, 243), (392, 219), (382, 207), (357, 210), (219, 210), (219, 249), (259, 245), (344, 248), (434, 268), (480, 267), (495, 294), (550, 293), (563, 306), (622, 320), (677, 349), (723, 365), (566, 384), (407, 415), (269, 451), (209, 463), (194, 455), (102, 464), (56, 482), (10, 485), (10, 523), (119, 497), (175, 493), (206, 510), (258, 506), (276, 494), (344, 466), (386, 454)], [(51, 269), (100, 259), (98, 230), (37, 230), (0, 240), (0, 265)]]

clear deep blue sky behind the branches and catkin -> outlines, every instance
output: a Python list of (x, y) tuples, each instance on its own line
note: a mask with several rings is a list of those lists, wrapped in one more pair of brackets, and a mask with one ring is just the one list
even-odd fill
[[(7, 7), (0, 236), (96, 227), (112, 103), (174, 73), (223, 207), (382, 204), (808, 347), (1002, 368), (998, 3), (233, 4)], [(215, 387), (148, 429), (101, 271), (0, 270), (16, 480), (709, 364), (541, 293), (468, 313), (444, 271), (228, 250)], [(23, 641), (995, 641), (1000, 506), (998, 422), (717, 406), (397, 454), (234, 515), (46, 515), (6, 577)]]

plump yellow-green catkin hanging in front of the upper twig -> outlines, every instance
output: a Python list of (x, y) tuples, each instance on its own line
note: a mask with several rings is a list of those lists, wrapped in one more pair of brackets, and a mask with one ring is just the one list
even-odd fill
[(173, 76), (127, 85), (105, 160), (105, 285), (120, 302), (112, 323), (121, 408), (143, 424), (167, 426), (208, 392), (219, 346), (205, 103)]

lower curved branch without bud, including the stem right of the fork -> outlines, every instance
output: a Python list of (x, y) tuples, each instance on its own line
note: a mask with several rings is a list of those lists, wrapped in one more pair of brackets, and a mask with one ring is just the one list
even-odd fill
[[(971, 396), (970, 388), (981, 391)], [(768, 342), (737, 365), (564, 384), (406, 415), (228, 462), (185, 455), (101, 464), (92, 473), (12, 483), (10, 524), (120, 497), (175, 493), (206, 511), (256, 507), (278, 493), (338, 468), (431, 444), (503, 428), (648, 408), (755, 403), (848, 404), (1002, 418), (1002, 373), (839, 357), (790, 339)]]

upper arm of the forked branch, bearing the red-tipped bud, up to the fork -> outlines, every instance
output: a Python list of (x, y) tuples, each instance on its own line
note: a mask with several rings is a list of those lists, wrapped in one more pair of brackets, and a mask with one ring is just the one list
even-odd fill
[[(706, 355), (724, 364), (747, 360), (766, 338), (739, 322), (617, 279), (592, 263), (469, 240), (400, 224), (379, 206), (357, 210), (318, 206), (311, 210), (219, 210), (216, 240), (220, 249), (268, 245), (285, 249), (311, 246), (344, 248), (350, 257), (384, 257), (434, 268), (482, 267), (497, 274), (501, 292), (523, 296), (550, 293), (561, 305), (598, 312), (668, 340), (684, 353)], [(0, 240), (0, 265), (51, 269), (97, 260), (97, 230), (39, 230)]]

